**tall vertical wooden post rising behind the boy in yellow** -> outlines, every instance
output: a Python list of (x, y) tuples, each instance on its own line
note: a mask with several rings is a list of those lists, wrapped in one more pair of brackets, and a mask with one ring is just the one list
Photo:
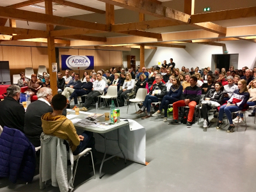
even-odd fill
[[(52, 15), (52, 0), (45, 0), (45, 13), (48, 15)], [(46, 24), (46, 27), (47, 27), (47, 31), (54, 30), (53, 25)], [(52, 95), (56, 95), (58, 93), (57, 73), (52, 72), (52, 63), (56, 63), (56, 53), (55, 53), (54, 37), (52, 36), (49, 36), (47, 38), (47, 49), (48, 49), (49, 74), (51, 79)]]

